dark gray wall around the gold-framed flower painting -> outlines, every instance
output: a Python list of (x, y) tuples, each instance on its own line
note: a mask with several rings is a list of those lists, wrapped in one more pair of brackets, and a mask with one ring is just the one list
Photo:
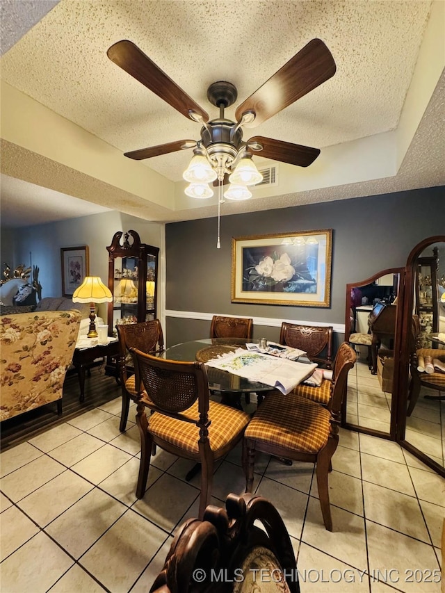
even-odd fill
[[(445, 188), (223, 216), (220, 250), (216, 218), (174, 222), (165, 228), (166, 309), (343, 324), (348, 282), (405, 266), (416, 243), (445, 233)], [(232, 237), (316, 229), (333, 229), (329, 308), (231, 302)], [(209, 322), (203, 320), (167, 317), (165, 325), (169, 345), (209, 332)], [(277, 332), (261, 328), (270, 339), (277, 339)]]

